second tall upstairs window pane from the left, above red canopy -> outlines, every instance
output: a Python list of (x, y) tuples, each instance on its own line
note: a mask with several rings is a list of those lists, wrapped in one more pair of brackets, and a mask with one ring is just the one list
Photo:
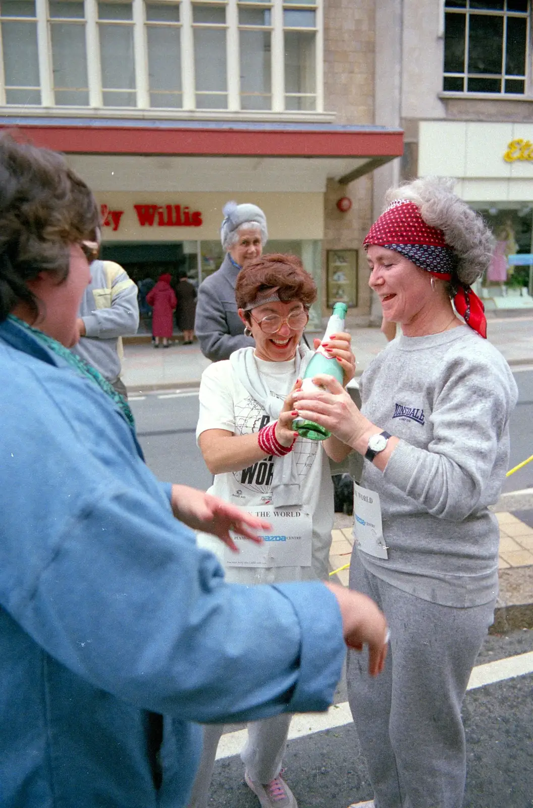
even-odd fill
[(50, 0), (52, 89), (58, 107), (87, 107), (85, 10), (78, 0)]

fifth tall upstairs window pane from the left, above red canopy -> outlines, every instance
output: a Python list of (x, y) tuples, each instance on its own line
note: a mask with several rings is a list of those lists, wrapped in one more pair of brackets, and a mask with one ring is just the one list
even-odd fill
[(197, 109), (227, 109), (226, 6), (192, 5)]

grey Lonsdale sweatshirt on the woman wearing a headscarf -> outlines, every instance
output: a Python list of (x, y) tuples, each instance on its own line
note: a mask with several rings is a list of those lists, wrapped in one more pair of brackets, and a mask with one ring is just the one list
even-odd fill
[(359, 551), (380, 579), (447, 606), (497, 594), (495, 503), (509, 461), (518, 392), (510, 368), (468, 326), (401, 335), (360, 382), (362, 412), (400, 438), (384, 473), (364, 461), (361, 485), (380, 495), (388, 559)]

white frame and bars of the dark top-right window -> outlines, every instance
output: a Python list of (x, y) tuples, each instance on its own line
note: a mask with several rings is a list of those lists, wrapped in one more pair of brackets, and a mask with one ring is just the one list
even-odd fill
[[(533, 95), (533, 86), (532, 86), (532, 70), (531, 70), (531, 61), (533, 59), (533, 48), (531, 47), (531, 7), (532, 7), (531, 0), (528, 0), (528, 8), (527, 12), (523, 11), (508, 11), (507, 10), (507, 0), (505, 0), (505, 6), (503, 10), (496, 10), (496, 9), (478, 9), (478, 8), (470, 8), (470, 0), (467, 0), (466, 8), (453, 8), (446, 6), (446, 0), (442, 0), (442, 23), (443, 23), (443, 48), (446, 47), (446, 15), (460, 15), (461, 17), (465, 18), (465, 28), (464, 28), (464, 72), (463, 73), (452, 73), (452, 72), (445, 72), (443, 69), (443, 80), (445, 78), (462, 78), (463, 79), (463, 90), (443, 90), (442, 95), (463, 95), (465, 97), (472, 97), (475, 95), (476, 97), (494, 97), (497, 96), (498, 98), (502, 99), (524, 99), (524, 98), (531, 98)], [(502, 41), (503, 44), (506, 45), (506, 37), (507, 37), (507, 20), (510, 17), (518, 18), (518, 19), (526, 19), (526, 69), (524, 76), (515, 76), (506, 73), (506, 48), (502, 48), (502, 72), (500, 74), (474, 74), (468, 72), (468, 34), (469, 34), (469, 22), (470, 22), (470, 15), (481, 15), (481, 16), (488, 16), (488, 17), (502, 17), (503, 18), (503, 34), (502, 34)], [(443, 57), (446, 57), (446, 54), (443, 53)], [(468, 79), (474, 78), (487, 78), (487, 79), (498, 79), (500, 81), (500, 91), (499, 92), (482, 92), (481, 90), (468, 90)], [(524, 82), (524, 91), (523, 93), (506, 93), (505, 92), (505, 85), (506, 80), (513, 80), (516, 79), (518, 81)], [(466, 87), (466, 89), (465, 89)]]

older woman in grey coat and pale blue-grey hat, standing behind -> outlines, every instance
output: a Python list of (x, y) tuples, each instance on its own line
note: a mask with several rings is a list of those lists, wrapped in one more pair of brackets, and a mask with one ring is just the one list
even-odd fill
[(257, 205), (227, 202), (222, 213), (220, 241), (225, 259), (199, 285), (195, 316), (199, 346), (212, 362), (229, 359), (237, 348), (255, 344), (237, 314), (235, 281), (246, 263), (259, 258), (268, 238), (267, 217)]

